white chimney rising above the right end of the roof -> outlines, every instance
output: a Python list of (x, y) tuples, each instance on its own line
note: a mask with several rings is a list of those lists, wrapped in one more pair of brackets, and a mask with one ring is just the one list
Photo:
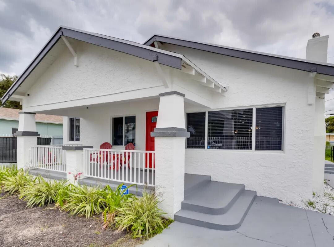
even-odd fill
[(318, 62), (327, 62), (328, 35), (320, 36), (314, 33), (306, 46), (306, 59)]

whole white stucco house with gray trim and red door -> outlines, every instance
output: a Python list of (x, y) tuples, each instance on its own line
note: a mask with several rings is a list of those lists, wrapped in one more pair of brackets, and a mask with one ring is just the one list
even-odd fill
[[(61, 26), (2, 98), (23, 104), (18, 166), (158, 189), (170, 217), (181, 208), (227, 214), (246, 191), (310, 198), (323, 188), (324, 95), (334, 82), (327, 46), (328, 35), (313, 35), (305, 60), (164, 35), (138, 44)], [(36, 147), (34, 113), (65, 116), (67, 146)], [(105, 142), (112, 149), (100, 149)], [(129, 143), (134, 150), (125, 151)], [(219, 212), (187, 201), (192, 194), (210, 204), (204, 187), (228, 199), (211, 203), (225, 203)]]

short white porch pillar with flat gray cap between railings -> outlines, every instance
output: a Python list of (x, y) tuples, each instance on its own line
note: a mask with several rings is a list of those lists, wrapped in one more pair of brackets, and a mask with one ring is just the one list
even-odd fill
[[(93, 148), (93, 146), (63, 146), (66, 152), (66, 179), (69, 183), (75, 182), (73, 174), (83, 172), (83, 149)], [(68, 174), (69, 172), (73, 174)], [(81, 178), (83, 176), (81, 175)]]

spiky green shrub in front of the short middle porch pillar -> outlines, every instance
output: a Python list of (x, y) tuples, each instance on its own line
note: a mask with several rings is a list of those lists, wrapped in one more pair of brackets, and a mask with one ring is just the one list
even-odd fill
[(85, 215), (86, 218), (102, 213), (103, 209), (99, 203), (101, 197), (98, 190), (99, 188), (88, 187), (87, 185), (72, 185), (72, 189), (63, 198), (66, 203), (63, 204), (61, 209), (74, 215)]

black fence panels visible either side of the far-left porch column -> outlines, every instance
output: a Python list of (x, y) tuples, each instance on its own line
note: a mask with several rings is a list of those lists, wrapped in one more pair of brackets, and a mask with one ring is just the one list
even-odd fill
[[(50, 145), (51, 138), (37, 137), (37, 145)], [(17, 139), (13, 137), (0, 137), (0, 163), (17, 162)]]

